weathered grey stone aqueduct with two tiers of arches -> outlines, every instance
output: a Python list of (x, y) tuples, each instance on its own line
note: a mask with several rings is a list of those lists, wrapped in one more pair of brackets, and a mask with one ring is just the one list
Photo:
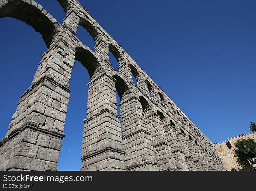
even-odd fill
[[(0, 17), (32, 26), (48, 47), (0, 142), (0, 170), (57, 169), (75, 60), (91, 79), (81, 170), (225, 170), (214, 144), (88, 11), (75, 0), (58, 2), (66, 13), (62, 25), (35, 1), (0, 0)], [(78, 25), (95, 40), (95, 51), (76, 37)]]

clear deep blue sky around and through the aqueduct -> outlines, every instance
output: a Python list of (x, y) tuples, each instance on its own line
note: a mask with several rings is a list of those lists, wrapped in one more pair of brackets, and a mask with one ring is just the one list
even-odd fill
[[(57, 1), (37, 2), (62, 24)], [(249, 132), (256, 122), (255, 1), (79, 2), (212, 142)], [(0, 29), (1, 139), (47, 47), (17, 19), (1, 18)], [(77, 37), (93, 49), (85, 29)], [(80, 170), (89, 81), (76, 62), (58, 170)]]

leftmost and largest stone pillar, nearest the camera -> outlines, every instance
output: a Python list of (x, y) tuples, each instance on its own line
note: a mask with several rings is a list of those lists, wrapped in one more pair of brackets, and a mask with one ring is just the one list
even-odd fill
[(65, 137), (72, 70), (64, 58), (72, 60), (74, 56), (59, 39), (42, 57), (32, 84), (22, 94), (8, 132), (1, 140), (2, 170), (57, 170), (61, 139)]

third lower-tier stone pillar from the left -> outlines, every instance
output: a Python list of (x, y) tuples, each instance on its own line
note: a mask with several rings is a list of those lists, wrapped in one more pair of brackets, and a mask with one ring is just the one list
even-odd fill
[(127, 170), (159, 170), (140, 100), (126, 94), (120, 106)]

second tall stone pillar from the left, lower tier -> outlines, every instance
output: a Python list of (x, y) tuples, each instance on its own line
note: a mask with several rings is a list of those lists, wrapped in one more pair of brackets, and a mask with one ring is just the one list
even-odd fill
[(99, 74), (88, 86), (81, 170), (125, 169), (115, 79), (105, 73)]

